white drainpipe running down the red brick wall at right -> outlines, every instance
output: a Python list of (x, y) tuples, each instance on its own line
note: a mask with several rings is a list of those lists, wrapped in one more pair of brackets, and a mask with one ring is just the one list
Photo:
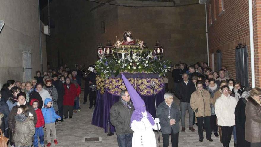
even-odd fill
[(251, 82), (252, 88), (256, 86), (255, 81), (255, 60), (254, 60), (254, 35), (253, 35), (253, 14), (252, 14), (252, 0), (248, 0), (249, 7), (249, 37), (250, 37), (250, 55), (251, 55)]

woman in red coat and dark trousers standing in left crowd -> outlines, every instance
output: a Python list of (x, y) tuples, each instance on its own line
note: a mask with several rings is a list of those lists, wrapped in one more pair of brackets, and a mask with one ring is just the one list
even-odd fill
[(64, 96), (63, 96), (63, 115), (64, 119), (72, 118), (74, 99), (77, 96), (77, 89), (74, 84), (71, 83), (71, 79), (67, 77), (64, 83)]

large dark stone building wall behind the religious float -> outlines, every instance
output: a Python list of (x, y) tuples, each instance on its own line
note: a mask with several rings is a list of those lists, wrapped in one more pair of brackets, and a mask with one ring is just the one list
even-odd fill
[[(176, 0), (176, 5), (190, 4), (197, 0)], [(136, 5), (173, 5), (169, 2), (125, 1), (111, 3)], [(42, 11), (47, 22), (47, 7)], [(60, 64), (94, 64), (96, 48), (107, 40), (123, 39), (123, 32), (130, 30), (134, 39), (144, 40), (153, 48), (156, 40), (164, 47), (164, 59), (192, 63), (207, 61), (204, 5), (197, 4), (170, 8), (131, 8), (91, 3), (88, 1), (55, 0), (50, 3), (50, 18), (55, 28), (47, 37), (47, 59), (52, 67)], [(101, 32), (101, 22), (105, 33)], [(62, 60), (63, 59), (63, 60)]]

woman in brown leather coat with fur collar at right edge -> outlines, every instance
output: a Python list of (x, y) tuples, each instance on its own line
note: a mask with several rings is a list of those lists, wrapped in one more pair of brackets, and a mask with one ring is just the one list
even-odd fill
[(256, 87), (250, 91), (246, 102), (245, 140), (251, 147), (261, 147), (261, 89)]

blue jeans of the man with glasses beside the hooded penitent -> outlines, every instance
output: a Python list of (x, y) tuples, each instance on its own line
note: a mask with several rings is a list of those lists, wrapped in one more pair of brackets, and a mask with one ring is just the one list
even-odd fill
[(133, 133), (117, 135), (119, 147), (131, 147), (132, 135)]

